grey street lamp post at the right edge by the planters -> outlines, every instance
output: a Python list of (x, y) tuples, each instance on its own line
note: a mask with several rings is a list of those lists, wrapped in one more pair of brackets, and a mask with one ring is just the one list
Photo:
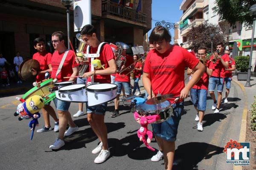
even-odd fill
[(249, 65), (248, 65), (248, 70), (247, 70), (247, 81), (246, 84), (244, 85), (245, 87), (251, 87), (250, 85), (250, 74), (251, 74), (251, 62), (252, 62), (252, 57), (253, 57), (253, 38), (254, 38), (254, 30), (255, 30), (255, 20), (256, 20), (256, 4), (250, 7), (249, 9), (250, 15), (253, 17), (253, 34), (252, 34), (252, 40), (251, 40), (251, 49), (250, 49), (250, 60), (249, 60)]

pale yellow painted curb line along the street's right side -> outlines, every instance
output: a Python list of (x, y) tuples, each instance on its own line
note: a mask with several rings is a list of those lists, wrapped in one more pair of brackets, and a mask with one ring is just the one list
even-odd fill
[[(242, 119), (241, 119), (241, 128), (240, 128), (240, 133), (239, 133), (239, 142), (245, 142), (245, 138), (246, 138), (246, 127), (247, 127), (247, 113), (248, 113), (248, 99), (247, 99), (247, 94), (245, 92), (245, 88), (244, 85), (242, 85), (240, 82), (238, 82), (237, 80), (233, 79), (233, 81), (239, 85), (239, 87), (241, 88), (243, 94), (244, 94), (244, 110), (242, 113)], [(233, 166), (233, 170), (242, 170), (242, 167), (238, 167), (238, 166)]]

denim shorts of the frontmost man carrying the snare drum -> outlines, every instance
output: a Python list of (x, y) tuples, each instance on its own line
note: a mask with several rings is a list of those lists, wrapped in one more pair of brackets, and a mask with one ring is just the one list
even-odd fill
[(154, 135), (169, 142), (175, 142), (184, 102), (172, 105), (173, 115), (165, 122), (152, 124)]

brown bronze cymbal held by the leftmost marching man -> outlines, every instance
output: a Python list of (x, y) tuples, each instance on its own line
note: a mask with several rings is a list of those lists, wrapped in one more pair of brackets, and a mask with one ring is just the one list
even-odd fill
[(35, 79), (35, 76), (31, 74), (32, 68), (35, 69), (37, 72), (40, 71), (39, 62), (35, 59), (25, 59), (19, 66), (18, 74), (20, 79)]

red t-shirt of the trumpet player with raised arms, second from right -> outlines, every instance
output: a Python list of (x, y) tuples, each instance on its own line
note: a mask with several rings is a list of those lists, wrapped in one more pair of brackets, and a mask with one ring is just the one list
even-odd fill
[[(212, 59), (213, 57), (211, 57)], [(226, 61), (230, 61), (228, 54), (224, 54), (221, 56), (221, 58)], [(212, 71), (212, 77), (222, 77), (225, 78), (225, 67), (221, 63), (220, 60), (217, 60), (214, 64), (214, 70)]]

